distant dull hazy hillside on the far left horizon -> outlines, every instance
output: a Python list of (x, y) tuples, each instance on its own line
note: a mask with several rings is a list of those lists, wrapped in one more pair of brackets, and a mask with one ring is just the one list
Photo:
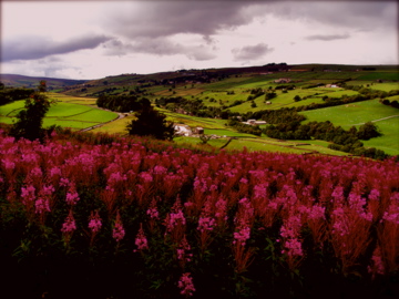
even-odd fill
[(49, 90), (63, 89), (65, 86), (78, 85), (86, 82), (86, 80), (54, 79), (45, 76), (27, 76), (18, 74), (0, 74), (0, 81), (6, 86), (14, 87), (35, 87), (41, 80), (47, 81)]

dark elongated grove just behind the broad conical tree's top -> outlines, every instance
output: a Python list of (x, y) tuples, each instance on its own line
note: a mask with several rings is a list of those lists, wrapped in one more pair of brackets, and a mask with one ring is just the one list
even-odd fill
[(137, 97), (134, 95), (108, 95), (102, 94), (96, 100), (96, 105), (116, 112), (130, 112), (142, 110), (144, 105), (150, 104), (146, 97)]

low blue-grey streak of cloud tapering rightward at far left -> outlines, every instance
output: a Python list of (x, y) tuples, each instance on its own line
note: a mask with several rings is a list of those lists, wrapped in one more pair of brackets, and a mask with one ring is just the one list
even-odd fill
[(104, 35), (79, 37), (55, 42), (42, 37), (24, 37), (2, 41), (1, 61), (37, 60), (54, 54), (65, 54), (84, 49), (94, 49), (111, 38)]

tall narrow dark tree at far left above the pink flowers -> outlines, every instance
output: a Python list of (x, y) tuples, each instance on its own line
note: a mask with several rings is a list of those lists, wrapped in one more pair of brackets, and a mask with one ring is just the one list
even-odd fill
[(10, 135), (16, 138), (27, 138), (30, 141), (42, 141), (45, 130), (42, 128), (43, 117), (49, 111), (51, 102), (44, 94), (47, 91), (45, 81), (40, 81), (38, 91), (33, 92), (25, 100), (24, 107), (17, 115), (17, 123), (13, 124)]

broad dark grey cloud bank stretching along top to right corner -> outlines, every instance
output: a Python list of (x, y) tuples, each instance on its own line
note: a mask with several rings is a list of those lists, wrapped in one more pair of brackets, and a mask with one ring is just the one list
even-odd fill
[[(139, 4), (137, 4), (139, 3)], [(314, 21), (370, 30), (396, 28), (395, 1), (133, 1), (123, 11), (108, 12), (106, 29), (130, 39), (178, 33), (204, 37), (250, 23), (255, 18)]]

